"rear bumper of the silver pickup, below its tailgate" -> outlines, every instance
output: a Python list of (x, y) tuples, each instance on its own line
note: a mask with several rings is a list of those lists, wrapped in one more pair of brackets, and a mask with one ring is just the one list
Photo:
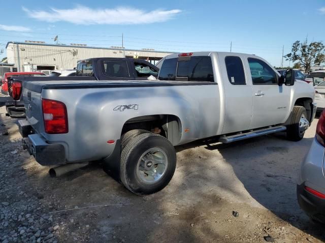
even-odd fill
[(18, 128), (23, 137), (23, 149), (33, 155), (42, 166), (66, 164), (66, 151), (61, 144), (49, 144), (40, 134), (34, 131), (27, 120), (19, 120)]

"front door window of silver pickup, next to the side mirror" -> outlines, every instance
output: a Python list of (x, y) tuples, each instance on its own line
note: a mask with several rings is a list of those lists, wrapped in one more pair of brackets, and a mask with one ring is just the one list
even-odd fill
[(264, 61), (248, 58), (253, 85), (277, 85), (276, 74)]

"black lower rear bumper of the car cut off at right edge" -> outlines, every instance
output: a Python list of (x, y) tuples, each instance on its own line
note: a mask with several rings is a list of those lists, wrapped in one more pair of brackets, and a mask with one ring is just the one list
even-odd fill
[(298, 203), (313, 219), (325, 223), (325, 199), (321, 199), (306, 191), (305, 183), (297, 185)]

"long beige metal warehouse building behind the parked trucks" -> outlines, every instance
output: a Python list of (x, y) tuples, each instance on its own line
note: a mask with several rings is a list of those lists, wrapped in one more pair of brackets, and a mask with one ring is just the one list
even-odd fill
[(93, 57), (131, 57), (155, 64), (161, 58), (172, 54), (153, 49), (131, 50), (121, 47), (88, 47), (80, 44), (59, 45), (45, 42), (8, 42), (8, 63), (17, 71), (73, 69), (77, 61)]

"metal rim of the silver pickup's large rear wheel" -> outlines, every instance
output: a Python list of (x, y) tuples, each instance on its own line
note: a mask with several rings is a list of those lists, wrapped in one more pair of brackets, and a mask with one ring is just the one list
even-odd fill
[(142, 182), (152, 184), (165, 175), (167, 166), (166, 152), (160, 148), (150, 148), (138, 160), (137, 176)]

